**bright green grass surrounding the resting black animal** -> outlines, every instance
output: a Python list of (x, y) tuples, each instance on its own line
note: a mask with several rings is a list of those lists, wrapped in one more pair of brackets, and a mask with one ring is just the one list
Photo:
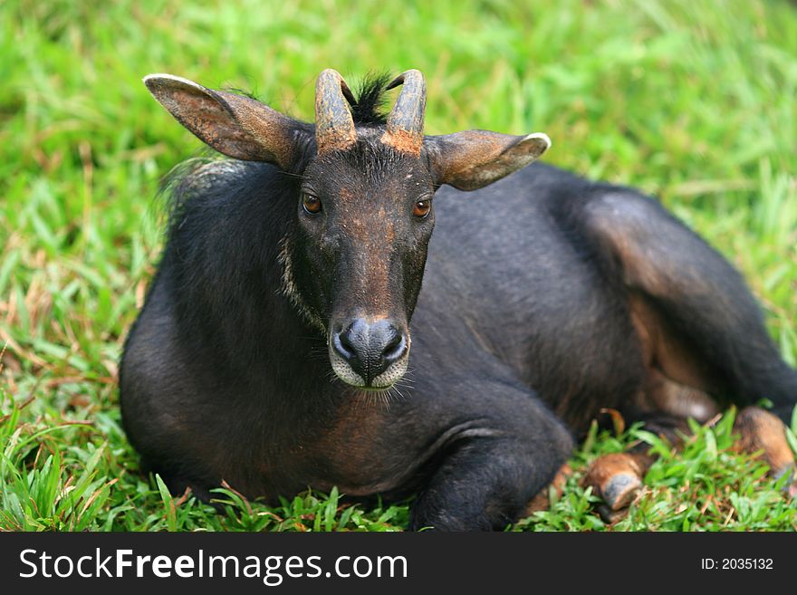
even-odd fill
[[(406, 505), (302, 494), (223, 513), (142, 475), (117, 362), (158, 262), (158, 179), (196, 139), (140, 82), (173, 72), (312, 118), (315, 76), (418, 68), (427, 132), (542, 130), (546, 160), (657, 194), (744, 273), (797, 362), (797, 9), (786, 2), (6, 0), (0, 5), (0, 528), (393, 531)], [(763, 398), (766, 395), (762, 395)], [(731, 448), (592, 435), (518, 530), (788, 530), (797, 503)], [(797, 430), (797, 422), (792, 424)], [(610, 527), (579, 479), (633, 440), (662, 457)]]

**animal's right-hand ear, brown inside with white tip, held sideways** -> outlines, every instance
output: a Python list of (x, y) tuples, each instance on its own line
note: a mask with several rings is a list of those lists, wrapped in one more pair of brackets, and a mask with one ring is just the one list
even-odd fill
[(516, 137), (488, 130), (429, 136), (424, 147), (436, 184), (476, 190), (524, 168), (551, 146), (542, 132)]

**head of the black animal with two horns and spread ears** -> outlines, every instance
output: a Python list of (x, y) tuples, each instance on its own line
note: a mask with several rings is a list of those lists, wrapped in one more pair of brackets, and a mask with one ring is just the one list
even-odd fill
[(176, 76), (144, 82), (213, 149), (301, 178), (281, 245), (283, 292), (326, 335), (337, 376), (360, 389), (387, 389), (407, 370), (437, 188), (485, 187), (550, 146), (541, 133), (424, 135), (426, 85), (416, 70), (387, 85), (402, 86), (387, 118), (369, 121), (352, 116), (357, 101), (341, 75), (322, 72), (314, 125)]

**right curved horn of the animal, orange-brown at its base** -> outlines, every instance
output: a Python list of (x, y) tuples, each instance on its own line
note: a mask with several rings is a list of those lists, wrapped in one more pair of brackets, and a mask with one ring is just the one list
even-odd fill
[(404, 85), (388, 117), (388, 130), (382, 143), (405, 153), (420, 154), (423, 147), (424, 112), (427, 107), (427, 83), (420, 71), (402, 72), (388, 85)]

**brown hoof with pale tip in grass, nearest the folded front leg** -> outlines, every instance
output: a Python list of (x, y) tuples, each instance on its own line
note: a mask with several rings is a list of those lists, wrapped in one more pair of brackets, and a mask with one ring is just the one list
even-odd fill
[[(642, 487), (643, 469), (628, 453), (603, 455), (592, 461), (584, 485), (592, 486), (612, 512), (626, 508)], [(599, 510), (600, 512), (600, 510)], [(601, 513), (601, 516), (604, 516)]]

